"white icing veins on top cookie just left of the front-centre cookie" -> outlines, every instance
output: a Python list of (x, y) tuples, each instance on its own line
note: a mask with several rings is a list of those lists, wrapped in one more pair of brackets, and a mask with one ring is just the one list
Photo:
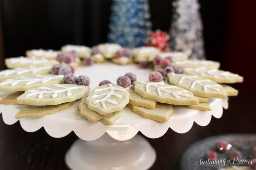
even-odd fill
[(63, 88), (63, 89), (56, 90), (56, 89), (53, 89), (53, 88), (41, 86), (41, 87), (38, 87), (38, 88), (43, 89), (43, 90), (49, 90), (49, 91), (29, 90), (28, 92), (30, 92), (30, 94), (26, 95), (25, 98), (33, 96), (33, 95), (38, 95), (37, 98), (41, 99), (41, 98), (43, 98), (44, 93), (53, 93), (52, 98), (56, 98), (58, 93), (63, 92), (63, 91), (67, 91), (66, 95), (71, 96), (72, 95), (71, 90), (74, 90), (74, 89), (77, 89), (77, 88), (83, 88), (83, 87), (77, 87), (77, 86), (67, 87), (67, 86), (64, 86), (64, 85), (61, 85), (61, 84), (53, 84), (53, 86), (60, 87), (60, 88)]

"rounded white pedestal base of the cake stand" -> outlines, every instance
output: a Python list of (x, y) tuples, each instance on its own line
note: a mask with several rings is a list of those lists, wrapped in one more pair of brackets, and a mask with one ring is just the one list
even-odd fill
[(140, 135), (116, 141), (106, 133), (95, 141), (77, 139), (65, 155), (67, 166), (74, 170), (146, 170), (155, 159), (155, 149)]

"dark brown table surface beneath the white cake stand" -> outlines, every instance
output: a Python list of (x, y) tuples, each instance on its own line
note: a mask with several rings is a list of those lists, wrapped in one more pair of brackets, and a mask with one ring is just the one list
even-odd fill
[[(157, 139), (147, 140), (157, 152), (157, 160), (151, 170), (179, 169), (182, 153), (192, 143), (213, 135), (230, 133), (256, 134), (256, 100), (239, 90), (237, 97), (230, 97), (229, 108), (220, 119), (212, 118), (210, 124), (201, 127), (196, 123), (185, 134), (169, 129)], [(50, 137), (44, 130), (28, 133), (19, 122), (7, 125), (0, 119), (0, 169), (68, 169), (64, 156), (77, 139), (72, 132), (63, 138)]]

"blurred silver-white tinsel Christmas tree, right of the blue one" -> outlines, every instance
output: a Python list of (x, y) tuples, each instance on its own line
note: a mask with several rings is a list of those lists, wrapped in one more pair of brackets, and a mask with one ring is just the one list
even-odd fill
[(200, 4), (197, 0), (176, 0), (173, 9), (170, 48), (185, 52), (190, 59), (205, 59)]

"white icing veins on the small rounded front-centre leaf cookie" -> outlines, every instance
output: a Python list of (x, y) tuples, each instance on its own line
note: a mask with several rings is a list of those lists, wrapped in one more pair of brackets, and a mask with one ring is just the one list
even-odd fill
[(108, 102), (108, 103), (111, 103), (111, 104), (118, 104), (115, 100), (108, 99), (108, 97), (111, 96), (111, 95), (113, 95), (113, 96), (115, 96), (116, 98), (122, 98), (122, 96), (121, 96), (120, 94), (115, 93), (114, 90), (125, 92), (125, 89), (113, 87), (113, 85), (112, 85), (111, 83), (109, 83), (108, 85), (109, 85), (109, 87), (106, 87), (106, 88), (97, 88), (97, 89), (95, 89), (95, 90), (93, 91), (93, 92), (98, 92), (98, 91), (102, 91), (102, 90), (108, 90), (108, 89), (110, 90), (110, 91), (105, 92), (105, 93), (103, 93), (103, 94), (92, 95), (91, 98), (97, 98), (97, 97), (99, 97), (99, 96), (106, 95), (103, 99), (94, 100), (94, 101), (93, 101), (93, 104), (101, 102), (101, 105), (102, 105), (103, 108), (106, 108), (106, 107), (107, 107), (104, 102)]

